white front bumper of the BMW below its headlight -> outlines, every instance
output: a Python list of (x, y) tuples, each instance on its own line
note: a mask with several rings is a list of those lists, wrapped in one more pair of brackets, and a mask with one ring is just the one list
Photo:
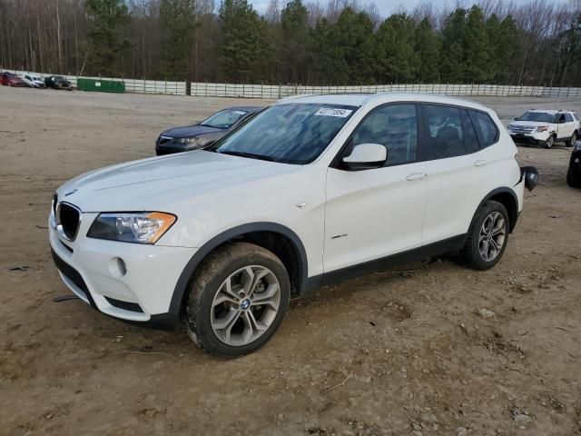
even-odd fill
[[(173, 291), (196, 249), (87, 238), (96, 216), (83, 213), (74, 242), (59, 235), (49, 219), (51, 251), (64, 284), (104, 314), (158, 328), (174, 326), (179, 312), (171, 310)], [(118, 258), (126, 265), (124, 274)]]

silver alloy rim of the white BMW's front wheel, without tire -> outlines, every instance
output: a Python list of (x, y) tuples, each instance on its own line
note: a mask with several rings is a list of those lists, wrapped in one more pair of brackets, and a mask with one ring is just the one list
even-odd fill
[(232, 272), (212, 301), (212, 331), (227, 345), (256, 341), (268, 331), (281, 305), (281, 285), (271, 270), (261, 265)]

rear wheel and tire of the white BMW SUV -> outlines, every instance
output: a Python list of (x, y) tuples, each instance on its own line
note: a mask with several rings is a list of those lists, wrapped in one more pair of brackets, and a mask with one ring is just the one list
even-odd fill
[(460, 260), (469, 268), (484, 271), (498, 263), (508, 243), (508, 213), (502, 203), (488, 200), (474, 216)]

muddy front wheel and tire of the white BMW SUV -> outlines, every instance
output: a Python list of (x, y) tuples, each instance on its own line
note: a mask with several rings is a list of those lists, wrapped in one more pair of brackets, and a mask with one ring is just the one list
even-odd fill
[(214, 356), (254, 352), (278, 330), (289, 307), (291, 282), (281, 260), (252, 243), (211, 253), (193, 277), (186, 329)]

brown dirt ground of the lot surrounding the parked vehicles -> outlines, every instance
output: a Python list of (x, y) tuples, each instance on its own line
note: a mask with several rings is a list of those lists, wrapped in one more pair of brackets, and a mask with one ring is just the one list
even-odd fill
[[(482, 100), (505, 120), (581, 112)], [(53, 302), (70, 294), (47, 243), (54, 189), (240, 103), (0, 87), (0, 434), (581, 434), (581, 191), (563, 146), (519, 147), (541, 182), (493, 270), (443, 259), (323, 288), (238, 360)]]

